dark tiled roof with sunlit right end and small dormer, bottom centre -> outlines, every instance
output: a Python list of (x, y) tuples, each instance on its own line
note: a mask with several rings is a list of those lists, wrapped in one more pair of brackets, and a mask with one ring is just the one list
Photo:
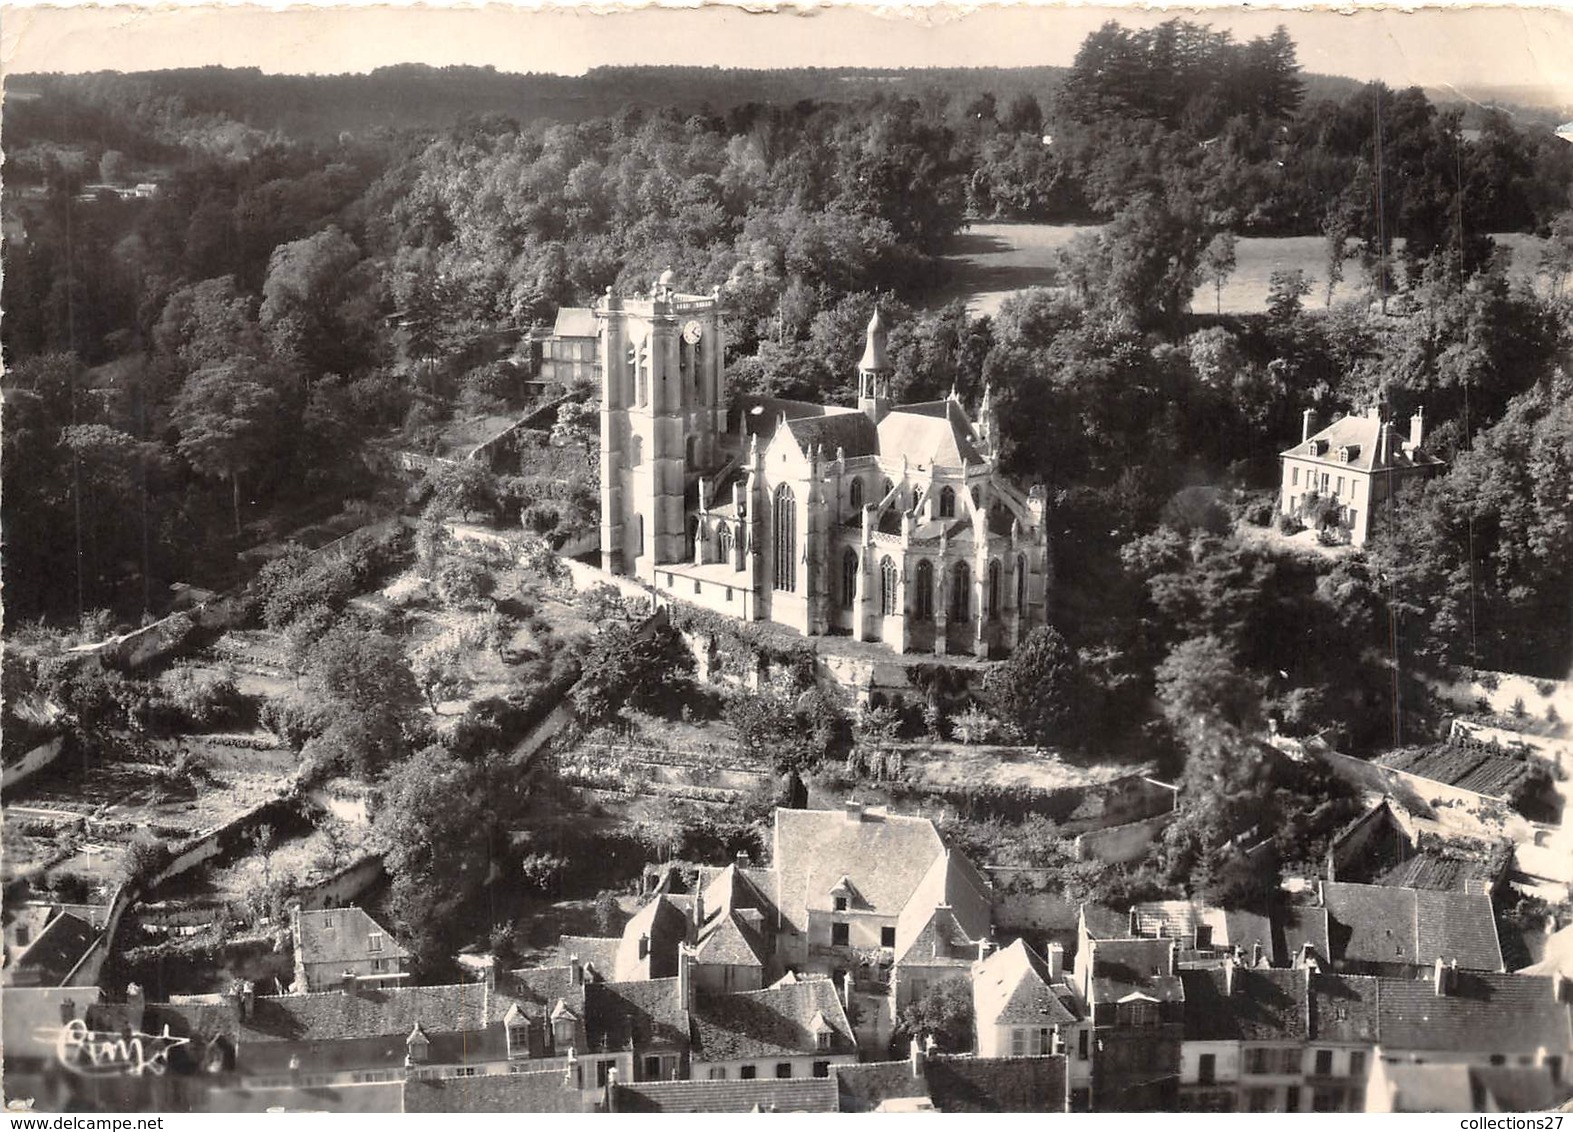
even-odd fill
[[(818, 1044), (816, 1022), (829, 1027), (829, 1049)], [(700, 998), (694, 1008), (695, 1061), (856, 1052), (853, 1027), (831, 979)]]

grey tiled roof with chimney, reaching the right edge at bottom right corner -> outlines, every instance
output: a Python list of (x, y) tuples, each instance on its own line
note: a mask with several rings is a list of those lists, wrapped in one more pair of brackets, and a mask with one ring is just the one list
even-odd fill
[(1435, 979), (1378, 983), (1381, 1044), (1387, 1050), (1534, 1053), (1573, 1050), (1573, 1009), (1537, 975), (1460, 970), (1446, 995)]

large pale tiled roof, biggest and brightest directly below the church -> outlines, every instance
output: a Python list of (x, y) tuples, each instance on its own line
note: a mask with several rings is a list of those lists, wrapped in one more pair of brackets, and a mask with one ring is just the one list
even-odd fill
[(777, 904), (786, 923), (805, 931), (809, 909), (832, 910), (831, 888), (846, 876), (875, 912), (895, 917), (942, 849), (926, 818), (777, 810)]

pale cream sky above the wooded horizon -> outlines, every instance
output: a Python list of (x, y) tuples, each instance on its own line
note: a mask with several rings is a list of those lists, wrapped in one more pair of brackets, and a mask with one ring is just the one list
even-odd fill
[[(1463, 91), (1520, 88), (1573, 112), (1573, 0), (1531, 6), (1296, 11), (933, 3), (747, 11), (733, 3), (596, 9), (448, 6), (42, 8), (0, 0), (0, 72), (253, 66), (370, 71), (392, 63), (580, 74), (599, 64), (1066, 64), (1101, 22), (1200, 19), (1236, 38), (1285, 24), (1306, 71)], [(755, 5), (758, 8), (761, 5)], [(1527, 101), (1527, 99), (1526, 99)]]

